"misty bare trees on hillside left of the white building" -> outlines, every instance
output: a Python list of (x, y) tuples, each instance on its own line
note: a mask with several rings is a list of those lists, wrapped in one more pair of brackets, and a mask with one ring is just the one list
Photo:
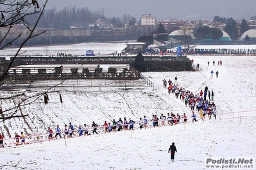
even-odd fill
[[(37, 21), (37, 15), (26, 16), (28, 24), (33, 25)], [(65, 7), (62, 10), (56, 10), (53, 7), (51, 10), (45, 10), (44, 15), (38, 22), (38, 27), (55, 28), (60, 30), (70, 29), (70, 26), (87, 27), (94, 23), (96, 19), (104, 19), (110, 22), (114, 27), (123, 27), (123, 23), (135, 25), (137, 20), (131, 15), (124, 14), (120, 17), (108, 18), (105, 16), (105, 9), (92, 11), (88, 7), (76, 8), (75, 6)]]

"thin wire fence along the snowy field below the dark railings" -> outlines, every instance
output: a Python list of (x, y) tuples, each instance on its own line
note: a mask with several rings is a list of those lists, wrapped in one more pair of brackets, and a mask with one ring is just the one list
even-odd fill
[[(27, 89), (27, 91), (46, 91), (51, 89), (52, 91), (81, 91), (81, 90), (93, 90), (93, 91), (108, 91), (108, 90), (128, 90), (128, 89), (144, 89), (146, 88), (143, 82), (146, 81), (148, 86), (152, 87), (152, 82), (144, 77), (144, 79), (130, 80), (130, 81), (111, 81), (111, 80), (69, 80), (69, 81), (38, 81), (38, 82), (9, 82), (5, 86), (1, 86), (0, 89), (10, 91), (20, 91)], [(151, 85), (150, 85), (151, 84)]]

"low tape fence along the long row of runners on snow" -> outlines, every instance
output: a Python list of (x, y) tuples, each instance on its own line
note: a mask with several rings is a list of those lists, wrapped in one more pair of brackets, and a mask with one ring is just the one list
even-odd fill
[[(246, 112), (255, 112), (255, 111), (246, 111)], [(225, 118), (223, 118), (223, 112), (220, 113), (220, 114), (216, 114), (216, 116), (218, 117), (218, 120), (216, 121), (221, 121), (221, 120), (238, 120), (239, 122), (239, 125), (241, 125), (242, 120), (245, 120), (246, 122), (246, 118), (250, 118), (250, 119), (255, 119), (255, 115), (251, 115), (251, 116), (237, 116), (237, 117), (234, 117), (234, 112), (233, 113), (233, 116), (230, 115), (230, 112), (228, 113), (224, 113), (224, 114), (228, 114), (228, 116), (226, 116)], [(235, 112), (235, 113), (238, 113), (238, 112)], [(136, 121), (135, 123), (132, 124), (132, 128), (130, 128), (130, 124), (120, 124), (120, 125), (110, 125), (110, 127), (112, 127), (111, 129), (111, 132), (117, 132), (119, 130), (117, 130), (119, 127), (122, 127), (122, 130), (121, 131), (124, 131), (124, 130), (139, 130), (139, 129), (144, 129), (146, 130), (146, 128), (155, 128), (155, 127), (180, 127), (180, 128), (183, 128), (184, 130), (186, 130), (186, 125), (189, 125), (189, 124), (194, 124), (194, 121), (192, 121), (194, 118), (192, 118), (191, 116), (188, 116), (187, 121), (183, 121), (183, 116), (180, 118), (180, 122), (174, 120), (174, 119), (171, 119), (171, 120), (158, 120), (158, 121), (148, 121), (148, 123), (146, 123), (146, 126), (144, 126), (144, 122), (140, 123), (138, 121)], [(212, 119), (215, 119), (214, 118), (214, 115), (212, 115)], [(202, 121), (201, 118), (198, 118), (197, 119), (199, 122)], [(172, 121), (172, 123), (170, 123)], [(207, 120), (206, 120), (207, 121)], [(210, 120), (209, 120), (210, 121)], [(156, 125), (155, 123), (158, 122), (158, 125)], [(162, 124), (164, 123), (164, 124)], [(197, 123), (197, 122), (195, 122)], [(155, 124), (155, 125), (154, 125)], [(183, 126), (180, 126), (180, 125), (183, 125)], [(127, 129), (124, 128), (124, 126), (127, 127)], [(116, 128), (113, 128), (113, 127), (116, 127)], [(94, 130), (95, 127), (87, 127), (87, 130), (88, 130), (88, 134), (92, 134), (92, 131)], [(110, 132), (108, 131), (108, 127), (105, 127), (104, 125), (99, 125), (97, 127), (97, 131), (98, 131), (98, 134), (103, 134), (103, 133), (107, 133), (107, 132)], [(115, 130), (113, 130), (115, 129)], [(81, 137), (85, 137), (85, 130), (83, 130), (82, 128), (82, 131), (83, 131), (83, 134), (81, 135)], [(62, 137), (64, 136), (64, 131), (62, 132), (59, 132), (60, 134), (62, 134)], [(52, 134), (52, 137), (51, 139), (49, 139), (49, 133), (47, 132), (34, 132), (33, 134), (27, 134), (26, 135), (26, 142), (22, 143), (21, 140), (18, 140), (15, 141), (16, 137), (4, 137), (3, 139), (3, 144), (5, 146), (13, 146), (13, 145), (20, 145), (20, 144), (33, 144), (33, 143), (42, 143), (44, 141), (50, 141), (50, 140), (56, 140), (57, 137), (55, 138), (55, 135), (56, 135), (56, 132), (53, 132)], [(132, 134), (131, 134), (132, 135)], [(57, 135), (56, 135), (57, 136)], [(66, 137), (68, 137), (69, 135), (66, 135)], [(80, 135), (78, 134), (78, 127), (75, 127), (74, 130), (73, 130), (73, 137), (80, 137)], [(87, 136), (88, 137), (88, 136)], [(58, 138), (60, 138), (60, 136), (58, 136)]]

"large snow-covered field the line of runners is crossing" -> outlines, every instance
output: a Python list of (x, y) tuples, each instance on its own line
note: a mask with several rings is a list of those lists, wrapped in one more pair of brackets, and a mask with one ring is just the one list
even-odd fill
[[(206, 48), (206, 47), (205, 47)], [(211, 47), (207, 47), (210, 49)], [(229, 48), (232, 48), (230, 46)], [(107, 53), (107, 52), (106, 52)], [(7, 164), (26, 169), (204, 169), (207, 157), (255, 157), (255, 120), (256, 100), (255, 56), (188, 56), (194, 59), (194, 67), (200, 64), (196, 72), (145, 72), (143, 75), (154, 82), (154, 89), (144, 82), (106, 81), (68, 81), (64, 84), (76, 84), (78, 87), (51, 89), (49, 104), (45, 105), (43, 97), (35, 104), (22, 105), (18, 114), (28, 114), (26, 120), (14, 118), (0, 123), (0, 130), (21, 132), (26, 129), (31, 134), (46, 133), (46, 128), (55, 128), (72, 122), (76, 127), (92, 121), (103, 125), (119, 118), (132, 118), (139, 121), (142, 116), (151, 118), (152, 114), (167, 115), (167, 112), (189, 115), (186, 125), (137, 129), (133, 131), (112, 132), (98, 135), (74, 137), (42, 143), (26, 144), (0, 148), (2, 157), (0, 167)], [(218, 66), (217, 61), (223, 61)], [(207, 66), (207, 61), (210, 65)], [(215, 66), (212, 61), (216, 61)], [(210, 71), (218, 70), (219, 77), (210, 76)], [(205, 86), (214, 90), (214, 103), (217, 105), (217, 120), (192, 123), (191, 110), (181, 100), (169, 95), (163, 88), (162, 80), (178, 77), (180, 87), (193, 93), (199, 93)], [(35, 82), (27, 97), (41, 93), (44, 84), (53, 85), (60, 82)], [(101, 84), (99, 86), (99, 84)], [(126, 84), (126, 85), (124, 85)], [(128, 84), (128, 85), (127, 85)], [(135, 85), (134, 85), (135, 84)], [(86, 86), (85, 86), (86, 85)], [(80, 86), (80, 87), (79, 87)], [(124, 90), (124, 86), (132, 87)], [(101, 88), (99, 88), (101, 87)], [(17, 93), (13, 90), (12, 95)], [(64, 103), (60, 103), (59, 94)], [(10, 92), (1, 91), (1, 96)], [(27, 101), (28, 102), (28, 101)], [(4, 109), (17, 104), (13, 100), (1, 100)], [(26, 103), (26, 102), (25, 102)], [(150, 123), (151, 124), (151, 123)], [(44, 139), (46, 135), (42, 135)], [(33, 140), (27, 139), (27, 141)], [(44, 140), (43, 139), (43, 140)], [(14, 143), (13, 139), (7, 140)], [(178, 152), (175, 162), (171, 162), (167, 153), (169, 145), (175, 142)], [(17, 169), (7, 167), (6, 169)], [(3, 169), (4, 169), (3, 168)]]

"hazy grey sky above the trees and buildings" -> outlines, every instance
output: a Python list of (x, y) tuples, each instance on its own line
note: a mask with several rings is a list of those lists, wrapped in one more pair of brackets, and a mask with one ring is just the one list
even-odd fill
[(151, 13), (157, 19), (209, 20), (215, 15), (232, 17), (235, 20), (249, 20), (256, 15), (255, 0), (49, 0), (47, 9), (55, 6), (62, 10), (65, 6), (88, 7), (102, 10), (106, 17), (132, 15), (137, 20), (142, 14)]

